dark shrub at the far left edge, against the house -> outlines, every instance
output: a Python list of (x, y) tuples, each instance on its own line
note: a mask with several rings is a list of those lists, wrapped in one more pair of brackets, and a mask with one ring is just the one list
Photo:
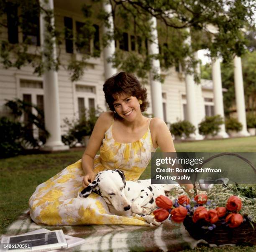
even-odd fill
[(0, 158), (17, 156), (23, 151), (23, 127), (20, 122), (11, 121), (3, 116), (0, 118)]

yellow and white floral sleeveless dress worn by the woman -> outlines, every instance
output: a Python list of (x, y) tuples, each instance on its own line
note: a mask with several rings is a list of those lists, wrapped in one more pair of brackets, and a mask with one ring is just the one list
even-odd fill
[[(136, 181), (151, 159), (153, 147), (148, 130), (133, 143), (118, 143), (112, 136), (113, 123), (105, 132), (100, 155), (94, 158), (94, 172), (120, 169), (126, 180)], [(82, 191), (81, 160), (67, 166), (46, 182), (38, 185), (29, 199), (30, 216), (34, 222), (47, 225), (127, 224), (147, 225), (143, 218), (111, 214), (105, 201), (95, 193), (77, 197)]]

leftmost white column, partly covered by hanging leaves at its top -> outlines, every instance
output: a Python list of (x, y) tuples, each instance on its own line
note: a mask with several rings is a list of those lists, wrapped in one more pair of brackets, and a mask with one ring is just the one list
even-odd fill
[[(44, 9), (54, 10), (53, 0), (40, 1), (41, 6)], [(44, 13), (40, 14), (40, 38), (41, 48), (44, 50), (44, 46), (47, 46), (45, 40), (47, 39), (47, 23), (44, 20)], [(54, 18), (51, 20), (54, 25)], [(53, 39), (52, 59), (56, 59), (56, 44)], [(43, 60), (46, 60), (43, 58)], [(50, 137), (47, 139), (46, 144), (42, 149), (49, 151), (65, 150), (69, 149), (69, 146), (65, 146), (61, 142), (61, 122), (59, 111), (59, 87), (58, 87), (58, 74), (54, 70), (45, 70), (44, 72), (44, 120), (46, 129), (50, 133)]]

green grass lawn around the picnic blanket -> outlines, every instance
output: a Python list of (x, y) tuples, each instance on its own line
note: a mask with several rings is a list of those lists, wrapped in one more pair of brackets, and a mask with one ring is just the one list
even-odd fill
[[(176, 151), (179, 152), (256, 152), (256, 136), (174, 144)], [(0, 234), (28, 209), (28, 199), (38, 184), (80, 159), (82, 153), (83, 151), (69, 151), (0, 159)], [(149, 177), (150, 168), (147, 168), (141, 179)], [(241, 247), (239, 251), (255, 251), (255, 248), (243, 250), (245, 247)], [(197, 248), (196, 251), (207, 250)]]

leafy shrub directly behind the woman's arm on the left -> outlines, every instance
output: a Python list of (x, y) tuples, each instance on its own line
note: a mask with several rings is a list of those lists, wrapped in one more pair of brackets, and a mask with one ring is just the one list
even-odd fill
[(91, 109), (90, 111), (86, 109), (80, 118), (73, 120), (65, 118), (63, 127), (67, 127), (67, 133), (61, 136), (62, 142), (69, 146), (74, 146), (77, 143), (83, 144), (84, 136), (92, 134), (100, 113), (102, 113), (102, 110), (97, 107), (97, 109)]

